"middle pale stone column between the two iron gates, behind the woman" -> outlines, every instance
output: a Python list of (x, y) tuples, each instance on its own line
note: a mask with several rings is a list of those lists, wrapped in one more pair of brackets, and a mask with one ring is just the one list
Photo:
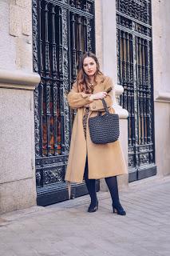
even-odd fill
[[(101, 8), (99, 7), (101, 5)], [(123, 93), (124, 89), (122, 86), (117, 85), (117, 21), (116, 21), (116, 0), (98, 0), (97, 1), (97, 12), (101, 12), (101, 23), (97, 22), (96, 30), (99, 39), (99, 33), (101, 31), (101, 42), (97, 42), (97, 52), (102, 58), (102, 70), (104, 74), (109, 75), (113, 79), (115, 91), (113, 94), (113, 107), (117, 114), (120, 116), (121, 125), (121, 146), (125, 154), (125, 161), (128, 166), (128, 111), (122, 109), (118, 105), (117, 99)], [(96, 18), (96, 20), (99, 20)], [(101, 30), (102, 29), (102, 30)], [(101, 48), (102, 45), (102, 48)], [(99, 48), (99, 49), (98, 49)], [(105, 190), (105, 183), (101, 182), (101, 189)], [(128, 185), (128, 175), (121, 176), (119, 178), (120, 186)]]

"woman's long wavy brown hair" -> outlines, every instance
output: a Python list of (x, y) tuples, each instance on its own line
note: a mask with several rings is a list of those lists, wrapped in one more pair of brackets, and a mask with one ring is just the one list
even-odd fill
[(93, 93), (93, 86), (89, 85), (89, 77), (87, 74), (85, 74), (84, 68), (83, 68), (83, 63), (85, 58), (90, 57), (93, 58), (93, 60), (97, 63), (97, 71), (94, 74), (94, 82), (96, 83), (96, 78), (97, 75), (102, 75), (102, 72), (100, 70), (100, 65), (97, 59), (97, 56), (91, 52), (87, 52), (85, 53), (82, 57), (81, 57), (81, 62), (79, 65), (79, 70), (78, 70), (78, 74), (77, 74), (77, 86), (78, 86), (78, 90), (80, 92), (85, 92), (86, 94), (91, 94)]

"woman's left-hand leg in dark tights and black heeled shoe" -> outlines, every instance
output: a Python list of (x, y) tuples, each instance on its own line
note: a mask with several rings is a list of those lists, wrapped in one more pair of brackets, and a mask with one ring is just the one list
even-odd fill
[(87, 189), (89, 191), (89, 196), (91, 198), (91, 203), (89, 205), (88, 211), (89, 211), (89, 213), (93, 213), (93, 212), (97, 211), (97, 209), (98, 209), (97, 192), (96, 192), (96, 180), (95, 179), (89, 179), (88, 174), (89, 174), (88, 160), (86, 158), (84, 178), (85, 178), (85, 184), (86, 184)]

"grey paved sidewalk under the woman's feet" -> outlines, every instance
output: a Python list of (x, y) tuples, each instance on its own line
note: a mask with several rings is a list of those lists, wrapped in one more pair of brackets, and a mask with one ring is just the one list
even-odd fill
[(84, 196), (1, 215), (0, 255), (170, 255), (170, 178), (131, 183), (120, 197), (126, 216), (112, 213), (106, 192), (93, 214)]

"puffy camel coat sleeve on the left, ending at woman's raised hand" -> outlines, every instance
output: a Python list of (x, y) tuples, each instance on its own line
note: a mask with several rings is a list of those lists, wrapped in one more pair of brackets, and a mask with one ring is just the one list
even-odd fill
[(77, 83), (75, 82), (69, 94), (67, 95), (69, 106), (76, 109), (78, 107), (88, 105), (89, 103), (93, 102), (89, 99), (90, 96), (91, 94), (78, 92)]

